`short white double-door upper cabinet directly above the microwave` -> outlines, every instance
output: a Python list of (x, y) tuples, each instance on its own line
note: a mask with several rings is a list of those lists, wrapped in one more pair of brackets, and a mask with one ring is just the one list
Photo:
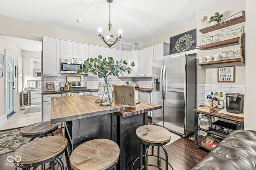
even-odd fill
[(88, 58), (88, 44), (60, 40), (60, 58), (84, 61)]

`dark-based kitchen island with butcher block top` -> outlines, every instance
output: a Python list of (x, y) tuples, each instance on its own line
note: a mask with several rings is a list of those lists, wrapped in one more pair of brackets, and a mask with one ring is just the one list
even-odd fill
[(119, 170), (131, 169), (132, 162), (139, 156), (139, 141), (136, 128), (147, 125), (147, 112), (161, 109), (161, 105), (141, 102), (136, 108), (125, 108), (113, 103), (101, 106), (93, 95), (51, 98), (51, 123), (65, 125), (68, 138), (68, 153), (83, 142), (95, 138), (113, 140), (120, 147)]

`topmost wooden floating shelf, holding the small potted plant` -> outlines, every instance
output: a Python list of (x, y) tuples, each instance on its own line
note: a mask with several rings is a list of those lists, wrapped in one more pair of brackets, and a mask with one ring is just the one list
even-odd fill
[(199, 30), (203, 34), (245, 22), (245, 15)]

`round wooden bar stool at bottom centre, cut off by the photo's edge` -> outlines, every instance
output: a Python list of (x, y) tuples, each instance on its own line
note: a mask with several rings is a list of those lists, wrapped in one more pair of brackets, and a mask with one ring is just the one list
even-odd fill
[(74, 170), (116, 170), (119, 146), (109, 139), (94, 139), (80, 144), (70, 156)]

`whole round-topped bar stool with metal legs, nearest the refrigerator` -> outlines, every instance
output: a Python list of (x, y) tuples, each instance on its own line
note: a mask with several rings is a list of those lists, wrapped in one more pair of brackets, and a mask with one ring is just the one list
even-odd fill
[[(136, 129), (136, 136), (137, 136), (137, 139), (140, 141), (140, 157), (136, 159), (136, 160), (139, 159), (140, 170), (142, 170), (142, 169), (146, 170), (147, 166), (154, 166), (154, 167), (158, 168), (159, 170), (162, 170), (161, 160), (165, 161), (165, 170), (168, 170), (168, 165), (170, 165), (170, 164), (168, 163), (168, 153), (167, 153), (166, 149), (164, 148), (164, 145), (167, 144), (168, 142), (170, 142), (171, 133), (169, 132), (169, 130), (167, 130), (164, 127), (160, 127), (160, 126), (156, 126), (156, 125), (144, 125), (144, 126), (138, 127)], [(146, 152), (144, 155), (142, 155), (143, 144), (147, 145)], [(148, 155), (149, 146), (152, 147), (151, 155)], [(154, 155), (154, 146), (157, 146), (157, 156)], [(164, 150), (165, 159), (160, 157), (160, 146)], [(147, 164), (148, 156), (157, 157), (157, 166), (154, 164)], [(144, 158), (144, 162), (142, 161), (142, 157)], [(134, 163), (133, 163), (133, 166), (134, 166)], [(133, 169), (133, 166), (132, 166), (132, 169)], [(171, 165), (170, 165), (170, 167), (172, 168)]]

